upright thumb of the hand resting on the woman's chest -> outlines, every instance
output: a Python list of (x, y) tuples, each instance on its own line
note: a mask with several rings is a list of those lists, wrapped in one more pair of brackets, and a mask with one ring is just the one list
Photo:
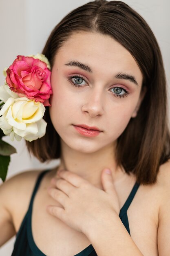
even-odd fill
[(109, 168), (104, 168), (102, 171), (102, 186), (104, 191), (108, 194), (115, 194), (115, 187), (113, 184), (112, 172)]

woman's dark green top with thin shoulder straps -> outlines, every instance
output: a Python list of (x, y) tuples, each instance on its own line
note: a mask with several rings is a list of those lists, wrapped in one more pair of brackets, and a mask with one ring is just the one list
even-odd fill
[[(26, 212), (26, 215), (24, 216), (24, 219), (22, 221), (22, 224), (20, 226), (18, 233), (16, 234), (14, 249), (11, 256), (46, 256), (42, 251), (40, 251), (37, 245), (35, 245), (35, 242), (33, 240), (32, 229), (31, 229), (31, 215), (32, 215), (33, 200), (38, 190), (38, 187), (40, 185), (40, 182), (42, 180), (42, 177), (46, 172), (47, 171), (42, 171), (38, 176), (37, 182), (35, 184), (35, 187), (31, 196), (29, 209)], [(129, 229), (127, 210), (137, 192), (138, 187), (139, 187), (139, 184), (136, 182), (132, 188), (132, 191), (130, 192), (130, 195), (128, 196), (128, 199), (126, 200), (124, 206), (120, 209), (120, 213), (119, 213), (119, 218), (123, 222), (129, 234), (130, 234), (130, 229)], [(57, 252), (56, 252), (56, 255), (57, 255)], [(91, 244), (74, 256), (97, 256), (97, 254), (95, 252), (95, 249), (93, 248), (93, 245)]]

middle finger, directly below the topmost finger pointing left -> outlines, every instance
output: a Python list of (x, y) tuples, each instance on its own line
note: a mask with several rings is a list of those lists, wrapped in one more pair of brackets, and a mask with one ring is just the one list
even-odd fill
[(51, 180), (51, 183), (68, 196), (70, 192), (73, 191), (73, 189), (75, 189), (75, 186), (73, 186), (70, 182), (63, 179), (53, 178)]

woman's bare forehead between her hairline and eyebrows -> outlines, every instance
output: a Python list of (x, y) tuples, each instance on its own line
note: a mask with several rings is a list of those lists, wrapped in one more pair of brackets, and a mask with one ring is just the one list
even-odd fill
[[(128, 50), (115, 39), (95, 32), (72, 34), (55, 56), (55, 63), (77, 60), (89, 64), (93, 72), (128, 72), (142, 80), (137, 62)], [(54, 65), (55, 65), (54, 63)]]

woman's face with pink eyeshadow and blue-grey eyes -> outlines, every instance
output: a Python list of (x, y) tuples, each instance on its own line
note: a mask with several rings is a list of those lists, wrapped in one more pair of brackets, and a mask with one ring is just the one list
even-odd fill
[[(142, 99), (135, 59), (113, 38), (92, 32), (72, 35), (59, 49), (51, 84), (53, 126), (65, 144), (84, 153), (113, 145)], [(89, 135), (80, 124), (101, 132)]]

